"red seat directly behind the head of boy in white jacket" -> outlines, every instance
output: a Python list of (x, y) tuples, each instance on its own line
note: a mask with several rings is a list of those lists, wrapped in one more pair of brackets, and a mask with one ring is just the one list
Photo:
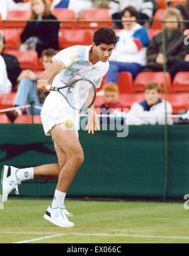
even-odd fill
[[(144, 92), (144, 86), (149, 82), (157, 82), (164, 91), (164, 73), (163, 72), (140, 72), (134, 80), (133, 89), (135, 92)], [(167, 92), (171, 91), (171, 76), (166, 72)]]

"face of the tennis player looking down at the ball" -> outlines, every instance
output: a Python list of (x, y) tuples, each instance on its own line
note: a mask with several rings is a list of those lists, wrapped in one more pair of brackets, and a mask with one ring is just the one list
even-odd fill
[(96, 58), (99, 61), (106, 62), (112, 54), (113, 46), (113, 44), (100, 44), (99, 46), (96, 46), (93, 42)]

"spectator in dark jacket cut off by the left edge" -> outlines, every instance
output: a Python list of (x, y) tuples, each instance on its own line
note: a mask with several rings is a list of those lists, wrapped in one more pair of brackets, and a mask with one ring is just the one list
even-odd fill
[(12, 88), (13, 90), (15, 85), (17, 85), (17, 78), (21, 73), (20, 63), (18, 62), (18, 59), (15, 56), (11, 54), (3, 53), (4, 46), (6, 46), (6, 42), (4, 40), (4, 37), (2, 37), (2, 39), (3, 39), (3, 45), (0, 46), (0, 54), (4, 59), (4, 63), (6, 64), (6, 71), (8, 74), (8, 78), (11, 84), (13, 85), (13, 88)]

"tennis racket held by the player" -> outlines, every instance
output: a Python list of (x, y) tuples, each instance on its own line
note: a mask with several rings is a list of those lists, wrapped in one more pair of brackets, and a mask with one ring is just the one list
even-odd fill
[[(66, 94), (60, 91), (67, 88)], [(54, 87), (51, 85), (46, 85), (46, 88), (55, 92), (59, 92), (64, 99), (66, 99), (69, 106), (73, 109), (82, 111), (91, 107), (96, 97), (96, 87), (91, 80), (87, 78), (79, 78), (71, 83), (64, 85), (62, 87)]]

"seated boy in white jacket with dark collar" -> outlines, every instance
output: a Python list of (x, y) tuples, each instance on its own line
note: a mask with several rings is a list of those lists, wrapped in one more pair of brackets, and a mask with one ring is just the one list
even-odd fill
[[(165, 113), (172, 114), (171, 104), (160, 99), (160, 86), (156, 82), (147, 83), (144, 88), (145, 101), (135, 102), (130, 107), (128, 113), (129, 125), (164, 125)], [(173, 124), (173, 120), (167, 118), (168, 125)]]

